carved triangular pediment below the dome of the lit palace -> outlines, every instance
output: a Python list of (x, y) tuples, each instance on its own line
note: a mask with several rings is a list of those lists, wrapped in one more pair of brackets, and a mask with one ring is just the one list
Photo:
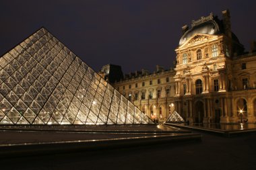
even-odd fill
[(207, 40), (211, 40), (213, 38), (216, 38), (218, 36), (216, 35), (208, 35), (208, 34), (195, 34), (191, 38), (189, 38), (184, 44), (179, 46), (179, 48), (185, 48), (187, 46), (191, 46), (193, 44), (199, 44), (201, 42), (205, 42)]

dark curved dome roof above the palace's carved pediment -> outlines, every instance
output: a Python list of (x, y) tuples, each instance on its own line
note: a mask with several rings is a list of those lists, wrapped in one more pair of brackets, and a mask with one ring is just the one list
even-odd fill
[(207, 22), (202, 22), (196, 26), (193, 26), (183, 36), (179, 42), (179, 46), (184, 44), (189, 38), (191, 38), (194, 34), (209, 34), (209, 35), (217, 35), (220, 34), (220, 27), (216, 21), (210, 20)]

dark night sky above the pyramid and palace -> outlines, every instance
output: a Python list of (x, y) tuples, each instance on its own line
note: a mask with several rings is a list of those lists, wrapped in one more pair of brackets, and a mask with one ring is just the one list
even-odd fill
[(256, 40), (256, 1), (84, 0), (0, 2), (0, 55), (44, 26), (92, 69), (124, 73), (172, 67), (181, 27), (230, 9), (232, 31), (246, 50)]

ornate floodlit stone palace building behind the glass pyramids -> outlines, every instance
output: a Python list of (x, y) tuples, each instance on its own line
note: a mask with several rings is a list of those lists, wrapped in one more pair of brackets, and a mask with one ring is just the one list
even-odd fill
[[(212, 13), (182, 27), (174, 69), (159, 65), (122, 75), (106, 65), (100, 73), (142, 112), (164, 122), (176, 110), (194, 123), (256, 122), (256, 52), (244, 52), (231, 30), (230, 13)], [(122, 74), (118, 74), (119, 73)]]

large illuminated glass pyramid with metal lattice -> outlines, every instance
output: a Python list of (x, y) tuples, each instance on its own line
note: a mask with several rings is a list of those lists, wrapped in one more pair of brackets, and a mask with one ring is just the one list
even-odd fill
[(148, 123), (45, 28), (0, 58), (0, 124)]

